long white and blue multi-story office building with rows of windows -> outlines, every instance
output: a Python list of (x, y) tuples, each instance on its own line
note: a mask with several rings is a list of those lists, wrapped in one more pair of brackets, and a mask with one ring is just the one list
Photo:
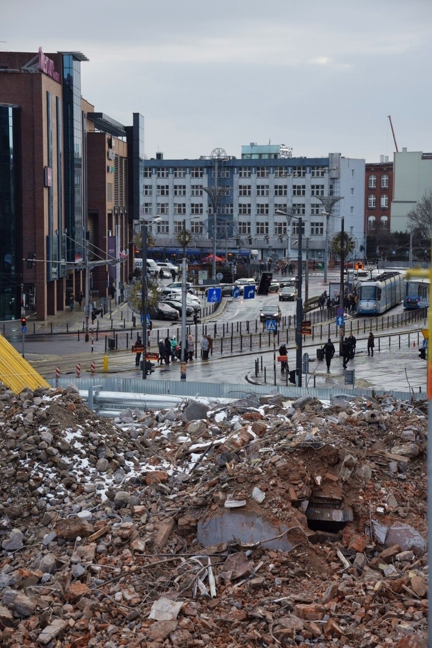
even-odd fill
[[(215, 173), (217, 169), (217, 181)], [(142, 167), (142, 211), (144, 218), (161, 216), (153, 224), (156, 248), (161, 254), (179, 253), (177, 233), (194, 235), (192, 249), (211, 246), (213, 205), (206, 188), (225, 187), (218, 202), (216, 240), (218, 249), (247, 255), (258, 251), (259, 259), (290, 259), (298, 255), (299, 221), (302, 218), (302, 250), (308, 244), (309, 258), (324, 259), (326, 216), (320, 198), (343, 196), (328, 218), (329, 237), (341, 227), (357, 241), (355, 255), (364, 240), (365, 161), (343, 157), (293, 157), (284, 145), (242, 146), (242, 157), (201, 157), (194, 160), (145, 160)], [(293, 214), (288, 218), (278, 211)], [(297, 218), (295, 218), (297, 216)], [(308, 239), (306, 241), (306, 239)], [(289, 249), (288, 249), (289, 246)]]

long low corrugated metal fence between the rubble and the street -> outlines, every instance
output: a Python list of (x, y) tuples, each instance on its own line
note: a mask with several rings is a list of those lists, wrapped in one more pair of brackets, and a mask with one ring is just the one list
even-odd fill
[[(252, 384), (234, 384), (234, 383), (212, 383), (212, 382), (180, 382), (178, 380), (151, 380), (145, 381), (142, 378), (79, 378), (70, 380), (69, 378), (51, 378), (48, 381), (52, 387), (57, 384), (59, 387), (67, 388), (70, 384), (78, 388), (88, 390), (91, 386), (100, 385), (103, 391), (119, 391), (121, 393), (148, 393), (148, 394), (172, 394), (185, 397), (209, 397), (209, 398), (242, 398), (248, 393), (258, 395), (268, 395), (279, 393), (290, 399), (296, 399), (299, 396), (309, 394), (320, 400), (330, 400), (332, 396), (347, 394), (352, 397), (365, 396), (372, 397), (372, 391), (377, 396), (385, 394), (392, 395), (394, 399), (411, 400), (409, 391), (391, 391), (389, 389), (347, 389), (347, 388), (306, 388), (306, 387), (286, 387), (272, 385), (252, 385)], [(426, 393), (415, 393), (415, 399), (426, 399)]]

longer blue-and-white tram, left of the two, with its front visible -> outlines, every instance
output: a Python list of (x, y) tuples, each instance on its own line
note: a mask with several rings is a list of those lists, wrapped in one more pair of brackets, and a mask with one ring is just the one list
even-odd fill
[(378, 277), (357, 284), (357, 312), (378, 315), (399, 304), (404, 297), (404, 275), (383, 272)]

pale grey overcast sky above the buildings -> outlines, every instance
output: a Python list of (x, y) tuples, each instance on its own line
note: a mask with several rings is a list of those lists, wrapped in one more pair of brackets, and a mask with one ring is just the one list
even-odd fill
[[(431, 0), (1, 0), (10, 51), (81, 51), (82, 95), (148, 157), (285, 144), (295, 156), (432, 151)], [(1, 101), (1, 96), (0, 96)]]

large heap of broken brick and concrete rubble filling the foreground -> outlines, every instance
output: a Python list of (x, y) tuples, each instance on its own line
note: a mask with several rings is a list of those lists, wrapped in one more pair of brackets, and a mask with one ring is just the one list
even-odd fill
[(426, 411), (0, 389), (0, 645), (427, 645)]

